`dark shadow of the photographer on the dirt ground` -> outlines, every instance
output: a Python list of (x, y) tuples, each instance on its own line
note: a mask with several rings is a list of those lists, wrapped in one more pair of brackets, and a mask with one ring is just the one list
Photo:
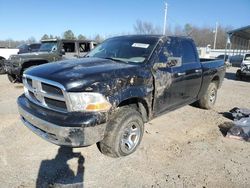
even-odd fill
[[(74, 171), (67, 164), (67, 161), (73, 158), (78, 159), (76, 174), (74, 174)], [(60, 147), (54, 159), (43, 160), (41, 162), (36, 187), (83, 188), (84, 162), (85, 159), (81, 153), (74, 153), (73, 149), (69, 147)]]

